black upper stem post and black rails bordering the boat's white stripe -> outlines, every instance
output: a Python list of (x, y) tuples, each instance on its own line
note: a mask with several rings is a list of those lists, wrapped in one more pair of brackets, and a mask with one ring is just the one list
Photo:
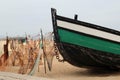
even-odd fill
[[(106, 28), (106, 27), (102, 27), (102, 26), (95, 25), (95, 24), (91, 24), (91, 23), (87, 23), (87, 22), (83, 22), (83, 21), (78, 21), (78, 20), (63, 17), (63, 16), (59, 16), (59, 15), (57, 15), (56, 12), (57, 12), (56, 9), (51, 8), (52, 22), (53, 22), (53, 29), (54, 29), (53, 32), (55, 32), (54, 35), (55, 35), (55, 38), (57, 38), (57, 40), (55, 39), (57, 42), (60, 42), (59, 35), (58, 35), (58, 27), (60, 27), (60, 26), (57, 25), (57, 20), (62, 20), (62, 21), (73, 23), (73, 24), (82, 25), (84, 27), (88, 27), (88, 28), (92, 28), (92, 29), (96, 29), (96, 30), (100, 30), (100, 31), (104, 31), (104, 32), (108, 32), (108, 33), (112, 33), (112, 34), (120, 36), (120, 31), (110, 29), (110, 28)], [(62, 28), (62, 27), (60, 27), (60, 28)], [(63, 28), (63, 29), (66, 29), (66, 28)], [(70, 30), (70, 29), (66, 29), (66, 30), (77, 32), (79, 34), (84, 34), (84, 35), (87, 35), (87, 36), (90, 36), (90, 37), (95, 37), (95, 38), (98, 38), (98, 39), (103, 39), (103, 40), (107, 40), (107, 41), (110, 41), (110, 42), (120, 44), (120, 42), (118, 42), (118, 41), (113, 41), (113, 40), (110, 40), (110, 39), (106, 39), (106, 38), (102, 38), (102, 37), (98, 37), (98, 36), (94, 36), (94, 35), (90, 35), (90, 34), (85, 34), (85, 33)]]

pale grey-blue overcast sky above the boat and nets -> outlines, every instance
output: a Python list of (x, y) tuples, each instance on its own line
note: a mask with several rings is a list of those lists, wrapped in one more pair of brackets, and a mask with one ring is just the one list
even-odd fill
[(57, 14), (120, 31), (120, 0), (0, 0), (0, 35), (52, 31), (51, 8)]

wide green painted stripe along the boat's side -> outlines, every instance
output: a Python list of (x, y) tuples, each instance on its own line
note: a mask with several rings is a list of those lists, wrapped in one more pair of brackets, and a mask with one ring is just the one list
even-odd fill
[(97, 39), (94, 37), (84, 36), (63, 29), (58, 29), (60, 41), (71, 43), (95, 50), (109, 52), (113, 54), (120, 54), (120, 44), (109, 42), (106, 40)]

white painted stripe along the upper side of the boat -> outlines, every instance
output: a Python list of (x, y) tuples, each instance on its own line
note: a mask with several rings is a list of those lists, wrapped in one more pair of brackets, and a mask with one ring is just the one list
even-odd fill
[(109, 39), (109, 40), (112, 40), (112, 41), (120, 42), (120, 36), (119, 35), (108, 33), (108, 32), (105, 32), (105, 31), (101, 31), (101, 30), (97, 30), (97, 29), (85, 27), (85, 26), (82, 26), (82, 25), (77, 25), (77, 24), (66, 22), (66, 21), (61, 21), (61, 20), (57, 20), (57, 25), (60, 26), (60, 27), (66, 28), (66, 29), (70, 29), (70, 30), (82, 32), (82, 33), (85, 33), (85, 34), (90, 34), (90, 35), (93, 35), (93, 36), (97, 36), (97, 37)]

